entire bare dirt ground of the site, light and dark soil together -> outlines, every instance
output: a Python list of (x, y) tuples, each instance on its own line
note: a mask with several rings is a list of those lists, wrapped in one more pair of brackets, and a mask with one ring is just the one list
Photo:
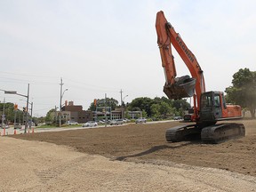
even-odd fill
[(256, 120), (236, 122), (220, 144), (166, 142), (179, 122), (0, 137), (0, 191), (256, 191)]

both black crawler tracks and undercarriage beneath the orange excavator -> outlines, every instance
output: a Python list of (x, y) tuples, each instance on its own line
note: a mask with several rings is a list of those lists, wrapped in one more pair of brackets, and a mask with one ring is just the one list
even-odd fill
[(221, 143), (227, 140), (242, 138), (245, 135), (244, 124), (212, 124), (202, 127), (188, 124), (172, 127), (165, 132), (167, 141), (199, 140), (203, 143)]

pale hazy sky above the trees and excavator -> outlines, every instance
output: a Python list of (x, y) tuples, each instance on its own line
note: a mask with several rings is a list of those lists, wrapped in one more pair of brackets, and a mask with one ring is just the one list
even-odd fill
[[(73, 100), (87, 109), (94, 98), (125, 102), (164, 96), (156, 44), (156, 12), (196, 55), (207, 91), (225, 91), (239, 68), (256, 71), (255, 1), (0, 0), (0, 89), (27, 94), (44, 116)], [(188, 69), (174, 52), (178, 76)], [(25, 106), (17, 95), (0, 100)]]

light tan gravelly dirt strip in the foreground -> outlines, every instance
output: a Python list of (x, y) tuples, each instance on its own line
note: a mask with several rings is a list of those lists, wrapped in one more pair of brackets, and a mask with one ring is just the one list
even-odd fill
[(255, 177), (191, 166), (113, 161), (37, 140), (0, 137), (1, 192), (256, 191)]

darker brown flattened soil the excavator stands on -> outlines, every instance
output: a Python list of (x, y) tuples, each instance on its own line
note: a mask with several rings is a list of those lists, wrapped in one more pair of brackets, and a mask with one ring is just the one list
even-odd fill
[(159, 164), (190, 164), (220, 168), (256, 176), (256, 120), (236, 121), (246, 136), (221, 144), (203, 144), (200, 140), (168, 143), (165, 130), (178, 122), (128, 124), (64, 132), (40, 132), (13, 135), (23, 140), (41, 140), (65, 145), (87, 154), (113, 160)]

